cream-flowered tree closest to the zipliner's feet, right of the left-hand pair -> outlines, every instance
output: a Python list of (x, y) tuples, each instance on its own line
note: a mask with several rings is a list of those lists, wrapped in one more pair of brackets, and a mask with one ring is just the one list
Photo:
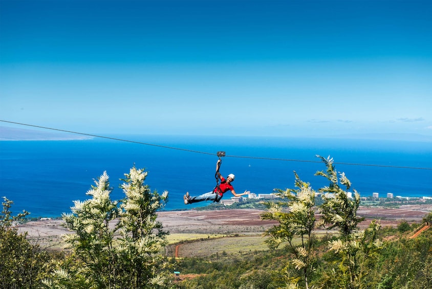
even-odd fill
[[(157, 254), (166, 246), (167, 232), (157, 221), (156, 212), (167, 202), (168, 192), (161, 195), (144, 184), (147, 172), (133, 167), (124, 174), (121, 185), (126, 197), (120, 208), (116, 228), (121, 234), (118, 253), (124, 262), (128, 288), (166, 286), (171, 274), (161, 274), (155, 269), (167, 268), (168, 263)], [(166, 271), (165, 271), (166, 272)]]

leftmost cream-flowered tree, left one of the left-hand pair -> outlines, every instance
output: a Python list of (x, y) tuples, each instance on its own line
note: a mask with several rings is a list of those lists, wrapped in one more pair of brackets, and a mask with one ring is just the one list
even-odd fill
[[(110, 198), (112, 188), (106, 171), (95, 180), (86, 193), (92, 198), (74, 201), (71, 213), (64, 213), (65, 226), (73, 234), (63, 236), (63, 240), (72, 249), (73, 259), (78, 268), (63, 266), (55, 271), (57, 285), (70, 287), (93, 286), (115, 288), (117, 282), (116, 252), (112, 222), (118, 216), (117, 202)], [(68, 263), (70, 260), (68, 261)], [(84, 284), (82, 284), (84, 282)], [(47, 281), (47, 285), (50, 285)]]

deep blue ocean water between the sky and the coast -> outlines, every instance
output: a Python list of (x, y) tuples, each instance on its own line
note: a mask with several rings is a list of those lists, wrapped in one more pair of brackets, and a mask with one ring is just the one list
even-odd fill
[[(328, 181), (314, 176), (326, 167), (315, 157), (330, 155), (336, 163), (374, 164), (403, 167), (432, 167), (432, 145), (428, 142), (245, 138), (119, 136), (118, 138), (208, 153), (226, 151), (230, 156), (288, 159), (265, 160), (225, 157), (221, 173), (235, 174), (237, 193), (271, 193), (274, 188), (293, 188), (295, 170), (303, 181), (317, 190)], [(152, 190), (169, 192), (166, 210), (185, 206), (183, 194), (208, 192), (215, 186), (218, 157), (159, 146), (107, 139), (75, 141), (0, 141), (0, 196), (14, 202), (13, 213), (23, 209), (31, 217), (60, 216), (70, 212), (76, 199), (84, 200), (94, 179), (106, 170), (114, 188), (112, 199), (120, 199), (124, 173), (134, 166), (148, 171), (146, 183)], [(315, 163), (317, 162), (318, 163)], [(361, 196), (387, 192), (395, 196), (432, 196), (432, 170), (336, 164), (345, 172)], [(232, 196), (228, 193), (224, 198)]]

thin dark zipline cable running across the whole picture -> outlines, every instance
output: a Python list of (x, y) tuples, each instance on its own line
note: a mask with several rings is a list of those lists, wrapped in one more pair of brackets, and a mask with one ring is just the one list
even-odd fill
[[(7, 121), (7, 120), (0, 120), (0, 122), (7, 122), (7, 123), (12, 123), (12, 124), (24, 125), (24, 126), (31, 126), (31, 127), (37, 127), (37, 128), (44, 128), (44, 129), (56, 130), (56, 131), (62, 131), (62, 132), (69, 132), (70, 134), (76, 134), (76, 135), (82, 135), (82, 136), (88, 136), (88, 137), (94, 137), (94, 138), (102, 138), (102, 139), (115, 140), (115, 141), (128, 142), (128, 143), (136, 143), (136, 144), (142, 144), (142, 145), (148, 145), (148, 146), (155, 146), (155, 147), (162, 147), (162, 148), (168, 148), (168, 149), (176, 149), (176, 150), (182, 150), (182, 151), (188, 151), (188, 152), (195, 152), (195, 153), (201, 153), (201, 154), (208, 154), (208, 155), (218, 155), (218, 154), (216, 154), (216, 153), (211, 153), (211, 152), (204, 152), (204, 151), (191, 150), (191, 149), (185, 149), (185, 148), (178, 148), (178, 147), (172, 147), (172, 146), (164, 146), (164, 145), (150, 144), (150, 143), (144, 143), (144, 142), (138, 142), (138, 141), (131, 141), (131, 140), (125, 140), (125, 139), (119, 139), (119, 138), (112, 138), (112, 137), (105, 137), (105, 136), (99, 136), (99, 135), (85, 134), (84, 132), (77, 132), (77, 131), (71, 131), (71, 130), (64, 130), (64, 129), (58, 129), (58, 128), (52, 128), (52, 127), (45, 127), (45, 126), (39, 126), (39, 125), (33, 125), (33, 124), (26, 124), (26, 123), (19, 123), (19, 122)], [(270, 160), (270, 161), (300, 162), (300, 163), (322, 163), (321, 161), (291, 160), (291, 159), (277, 159), (277, 158), (265, 158), (265, 157), (247, 157), (247, 156), (244, 156), (244, 155), (228, 155), (228, 154), (225, 155), (225, 157), (227, 157), (227, 158), (241, 158), (241, 159), (255, 159), (255, 160)], [(368, 167), (384, 167), (384, 168), (400, 168), (400, 169), (432, 170), (432, 168), (424, 168), (424, 167), (408, 167), (408, 166), (374, 165), (374, 164), (358, 164), (358, 163), (336, 163), (336, 162), (334, 162), (333, 164), (337, 164), (337, 165), (348, 165), (348, 166), (368, 166)]]

